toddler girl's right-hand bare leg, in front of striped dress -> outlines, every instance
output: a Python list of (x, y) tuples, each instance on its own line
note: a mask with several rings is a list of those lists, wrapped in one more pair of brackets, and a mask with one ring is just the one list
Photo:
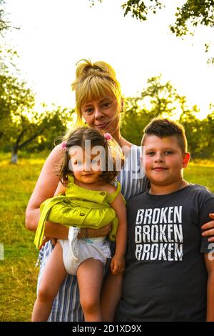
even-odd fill
[(77, 280), (85, 321), (102, 321), (101, 287), (103, 282), (103, 263), (93, 258), (83, 261), (77, 270)]

